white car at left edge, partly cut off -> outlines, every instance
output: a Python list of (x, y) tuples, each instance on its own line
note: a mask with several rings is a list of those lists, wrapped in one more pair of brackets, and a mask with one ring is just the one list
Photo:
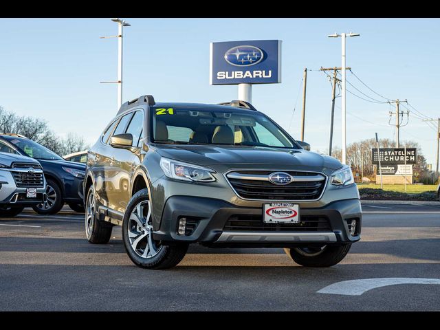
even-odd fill
[(46, 181), (40, 163), (8, 153), (0, 144), (0, 217), (14, 217), (25, 206), (45, 201)]

